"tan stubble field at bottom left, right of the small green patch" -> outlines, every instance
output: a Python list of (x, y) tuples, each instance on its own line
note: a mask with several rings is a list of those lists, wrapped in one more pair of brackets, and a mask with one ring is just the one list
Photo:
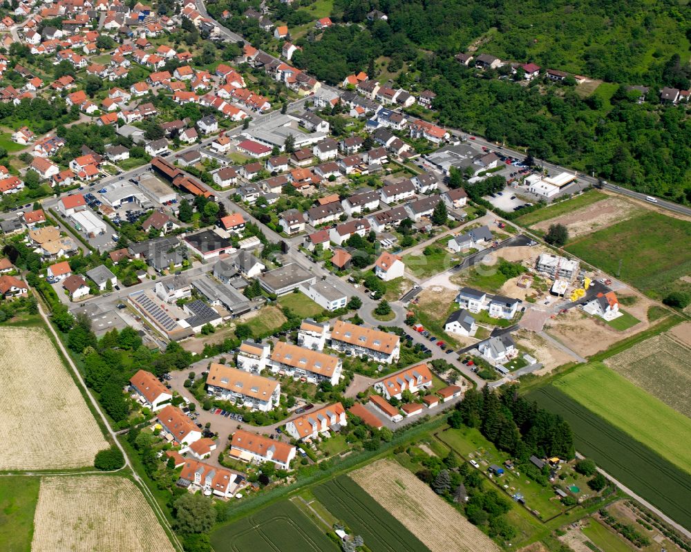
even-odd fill
[(32, 552), (175, 552), (151, 506), (129, 479), (44, 477)]

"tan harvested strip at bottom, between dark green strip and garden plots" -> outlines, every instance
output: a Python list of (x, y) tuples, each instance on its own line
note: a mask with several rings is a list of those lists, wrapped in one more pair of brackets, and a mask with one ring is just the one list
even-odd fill
[(453, 506), (393, 461), (376, 461), (354, 471), (350, 477), (431, 552), (499, 550), (495, 542)]

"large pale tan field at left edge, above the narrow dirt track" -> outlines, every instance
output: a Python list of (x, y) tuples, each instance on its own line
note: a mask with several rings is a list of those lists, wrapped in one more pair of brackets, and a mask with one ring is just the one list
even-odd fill
[(46, 330), (0, 328), (0, 470), (93, 466), (108, 443)]

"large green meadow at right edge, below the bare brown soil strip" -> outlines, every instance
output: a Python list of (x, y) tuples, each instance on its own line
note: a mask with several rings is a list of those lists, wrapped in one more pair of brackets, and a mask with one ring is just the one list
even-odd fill
[[(648, 212), (575, 238), (565, 249), (652, 298), (691, 289), (691, 224)], [(621, 268), (621, 271), (620, 271)]]

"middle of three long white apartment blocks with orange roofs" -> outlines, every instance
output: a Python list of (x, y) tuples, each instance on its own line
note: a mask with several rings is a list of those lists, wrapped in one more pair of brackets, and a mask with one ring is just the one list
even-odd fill
[(292, 377), (303, 377), (310, 383), (330, 381), (337, 385), (341, 377), (343, 364), (338, 356), (325, 354), (310, 349), (276, 342), (271, 354), (271, 370), (274, 373), (285, 373)]

